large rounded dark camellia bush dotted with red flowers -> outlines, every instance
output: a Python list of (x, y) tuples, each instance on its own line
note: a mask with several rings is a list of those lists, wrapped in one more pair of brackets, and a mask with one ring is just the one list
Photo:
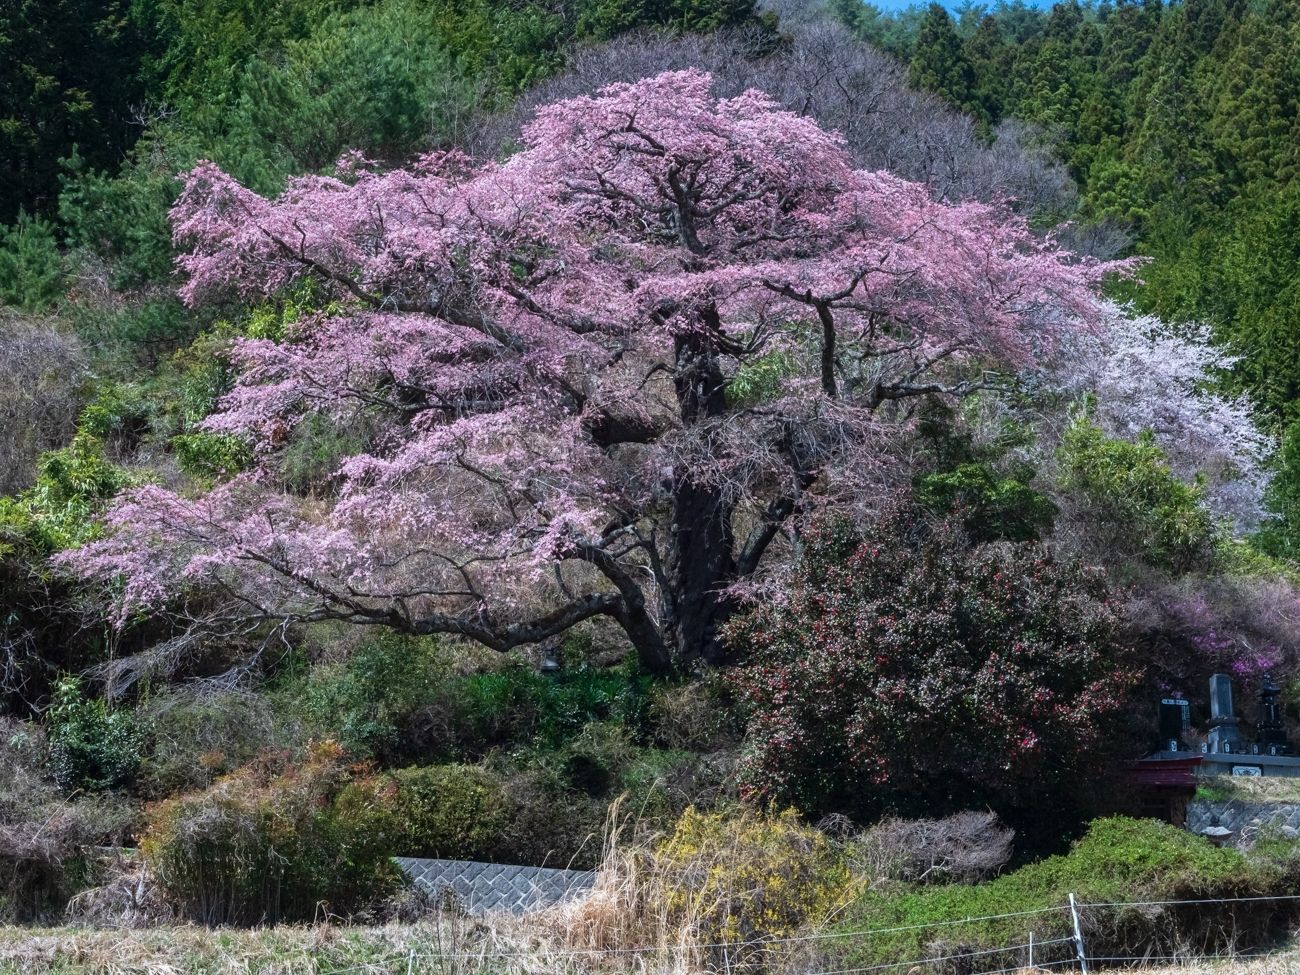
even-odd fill
[(731, 630), (745, 789), (859, 820), (992, 807), (1040, 818), (1104, 767), (1138, 679), (1119, 606), (1036, 543), (971, 546), (900, 504), (822, 525), (788, 595)]

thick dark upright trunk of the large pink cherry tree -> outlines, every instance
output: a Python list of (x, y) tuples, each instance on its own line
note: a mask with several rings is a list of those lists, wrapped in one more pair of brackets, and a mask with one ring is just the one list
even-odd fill
[[(673, 381), (688, 428), (727, 410), (727, 381), (714, 342), (716, 311), (706, 309), (701, 321), (703, 329), (676, 342)], [(720, 663), (727, 650), (719, 630), (733, 608), (723, 590), (736, 578), (733, 506), (689, 463), (679, 463), (672, 477), (672, 530), (664, 564), (667, 642), (679, 662)]]

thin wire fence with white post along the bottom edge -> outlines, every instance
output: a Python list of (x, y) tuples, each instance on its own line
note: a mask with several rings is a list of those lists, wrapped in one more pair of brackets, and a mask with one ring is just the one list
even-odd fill
[[(342, 968), (318, 970), (316, 975), (358, 975), (380, 971), (395, 971), (396, 965), (407, 975), (422, 975), (425, 972), (472, 972), (474, 970), (510, 971), (510, 962), (532, 961), (533, 965), (516, 966), (520, 971), (541, 972), (537, 965), (542, 958), (556, 962), (560, 967), (554, 968), (556, 975), (563, 972), (581, 972), (602, 959), (618, 959), (621, 971), (671, 971), (692, 972), (698, 971), (706, 975), (740, 975), (764, 971), (763, 965), (753, 962), (734, 961), (753, 957), (753, 953), (774, 952), (775, 949), (796, 948), (798, 945), (826, 944), (829, 941), (857, 940), (859, 946), (868, 946), (875, 937), (920, 932), (920, 931), (948, 931), (967, 924), (980, 924), (988, 922), (1023, 920), (1032, 923), (1032, 919), (1057, 914), (1067, 915), (1072, 933), (1046, 940), (1035, 940), (1032, 927), (1026, 928), (1027, 940), (1015, 944), (1005, 944), (991, 948), (953, 949), (946, 953), (931, 954), (927, 957), (905, 958), (888, 962), (872, 962), (857, 967), (809, 967), (783, 966), (786, 975), (890, 975), (896, 971), (913, 972), (961, 972), (961, 975), (1011, 975), (1013, 972), (1058, 972), (1076, 971), (1088, 975), (1098, 967), (1135, 967), (1143, 965), (1204, 965), (1218, 961), (1264, 961), (1282, 957), (1274, 952), (1226, 952), (1221, 954), (1196, 954), (1193, 952), (1150, 952), (1144, 954), (1089, 954), (1087, 949), (1086, 930), (1082, 918), (1088, 911), (1121, 911), (1126, 909), (1141, 907), (1183, 907), (1205, 905), (1236, 905), (1261, 902), (1295, 902), (1300, 901), (1300, 894), (1275, 894), (1260, 897), (1205, 897), (1190, 900), (1160, 900), (1160, 901), (1105, 901), (1084, 902), (1075, 901), (1072, 894), (1070, 902), (1052, 907), (1041, 907), (1028, 911), (1013, 911), (1006, 914), (987, 914), (968, 918), (953, 918), (918, 924), (900, 924), (893, 927), (876, 927), (845, 931), (823, 931), (807, 935), (779, 937), (779, 939), (753, 939), (736, 941), (718, 941), (711, 944), (680, 944), (680, 945), (640, 945), (615, 948), (580, 948), (564, 945), (545, 945), (533, 949), (500, 950), (495, 945), (484, 944), (477, 950), (407, 950), (394, 953), (384, 958), (370, 959), (361, 965)], [(837, 945), (838, 948), (840, 945)], [(1052, 950), (1054, 949), (1054, 950)], [(746, 953), (750, 953), (746, 956)], [(1063, 953), (1063, 954), (1062, 954)], [(719, 958), (711, 965), (690, 966), (682, 962), (666, 963), (650, 968), (642, 965), (640, 968), (628, 967), (628, 963), (641, 957), (655, 957), (671, 959), (680, 958)], [(1300, 968), (1300, 957), (1286, 956)], [(993, 963), (998, 967), (979, 967), (980, 963)], [(468, 963), (468, 965), (467, 965)], [(380, 967), (387, 966), (387, 967)], [(946, 967), (944, 967), (946, 966)], [(1089, 968), (1089, 966), (1092, 966)]]

